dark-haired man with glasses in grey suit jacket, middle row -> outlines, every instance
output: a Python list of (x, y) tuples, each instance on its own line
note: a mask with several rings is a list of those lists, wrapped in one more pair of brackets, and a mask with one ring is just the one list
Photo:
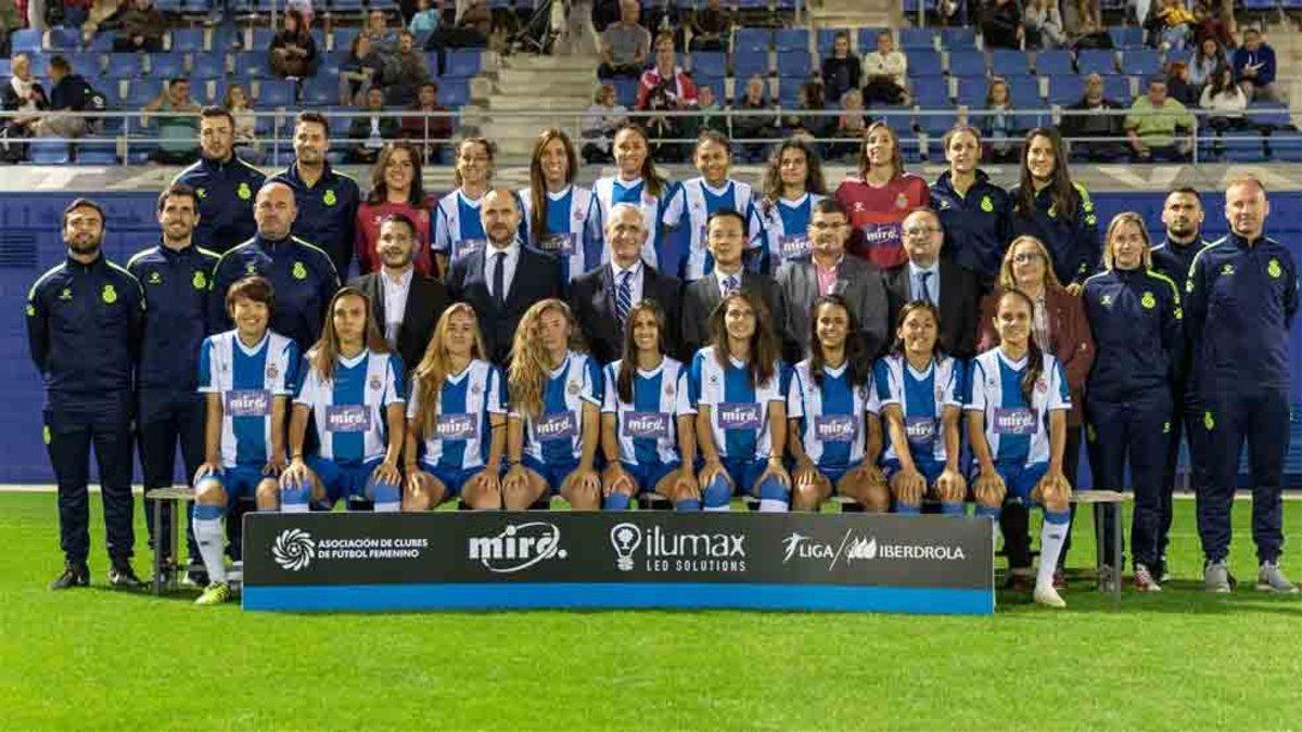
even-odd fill
[(786, 332), (807, 356), (810, 344), (810, 310), (824, 294), (840, 294), (850, 303), (859, 322), (859, 335), (867, 353), (876, 354), (889, 345), (887, 326), (887, 290), (878, 268), (845, 253), (850, 241), (850, 216), (835, 198), (814, 204), (809, 237), (814, 245), (810, 257), (783, 262), (777, 284), (786, 302)]

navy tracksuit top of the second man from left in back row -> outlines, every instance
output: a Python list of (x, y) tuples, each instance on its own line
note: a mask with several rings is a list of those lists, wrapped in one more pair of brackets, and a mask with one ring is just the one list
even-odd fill
[(294, 191), (298, 216), (290, 229), (296, 237), (326, 250), (340, 279), (348, 279), (357, 246), (357, 206), (362, 194), (357, 181), (335, 172), (326, 163), (320, 180), (309, 186), (298, 175), (298, 165), (272, 176), (268, 182), (283, 182)]

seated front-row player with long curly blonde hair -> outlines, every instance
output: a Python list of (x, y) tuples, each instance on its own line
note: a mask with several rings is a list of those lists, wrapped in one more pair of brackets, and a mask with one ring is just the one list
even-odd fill
[(592, 466), (602, 422), (602, 367), (572, 349), (578, 332), (569, 306), (544, 300), (519, 319), (512, 344), (510, 415), (503, 479), (508, 509), (533, 505), (548, 491), (578, 511), (602, 505), (602, 477)]

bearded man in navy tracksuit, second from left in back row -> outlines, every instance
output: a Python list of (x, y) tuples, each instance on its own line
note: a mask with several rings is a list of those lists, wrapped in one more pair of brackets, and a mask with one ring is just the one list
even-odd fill
[(329, 122), (320, 112), (299, 112), (294, 121), (294, 162), (271, 180), (294, 191), (298, 218), (296, 237), (329, 254), (340, 277), (353, 263), (353, 227), (362, 198), (357, 181), (336, 172), (326, 162)]

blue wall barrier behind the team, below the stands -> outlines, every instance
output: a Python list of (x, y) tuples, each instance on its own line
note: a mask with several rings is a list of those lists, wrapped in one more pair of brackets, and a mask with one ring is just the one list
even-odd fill
[[(40, 408), (44, 400), (40, 379), (27, 356), (23, 302), (27, 289), (42, 272), (65, 257), (60, 236), (64, 207), (79, 194), (73, 191), (0, 194), (0, 309), (9, 317), (3, 319), (0, 339), (0, 483), (48, 483), (53, 481), (46, 448), (40, 439)], [(104, 251), (125, 264), (132, 254), (158, 242), (158, 221), (154, 215), (156, 194), (147, 191), (109, 191), (91, 195), (104, 206), (108, 231)], [(1216, 238), (1225, 233), (1226, 221), (1219, 206), (1220, 191), (1204, 191), (1208, 204), (1204, 233)], [(1150, 231), (1161, 232), (1161, 193), (1095, 193), (1099, 228), (1104, 229), (1113, 215), (1137, 211), (1150, 224)], [(1302, 193), (1276, 193), (1271, 195), (1271, 234), (1288, 245), (1294, 257), (1302, 259), (1298, 241), (1302, 240)], [(1302, 396), (1302, 340), (1299, 328), (1290, 336), (1293, 346), (1293, 393)], [(1289, 456), (1289, 473), (1302, 473), (1302, 445), (1294, 440)], [(92, 461), (94, 462), (94, 461)], [(177, 473), (180, 477), (180, 472)]]

